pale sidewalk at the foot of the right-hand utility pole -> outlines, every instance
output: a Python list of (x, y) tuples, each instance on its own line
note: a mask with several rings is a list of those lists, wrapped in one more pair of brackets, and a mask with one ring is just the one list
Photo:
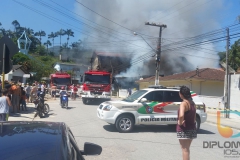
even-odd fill
[[(207, 109), (207, 122), (217, 125), (217, 111), (214, 109)], [(224, 114), (221, 114), (220, 118), (221, 126), (228, 126), (230, 128), (240, 130), (240, 117), (238, 115), (230, 114), (230, 118), (225, 118)]]

